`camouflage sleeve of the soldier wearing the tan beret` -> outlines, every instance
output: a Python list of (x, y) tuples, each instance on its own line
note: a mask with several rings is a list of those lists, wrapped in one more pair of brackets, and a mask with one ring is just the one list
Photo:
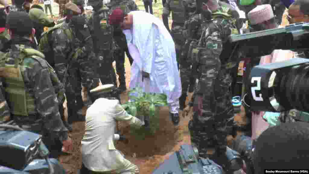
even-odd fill
[(63, 81), (63, 76), (68, 63), (67, 55), (70, 52), (70, 39), (67, 37), (63, 29), (55, 29), (52, 32), (52, 48), (54, 52), (55, 71), (60, 81)]

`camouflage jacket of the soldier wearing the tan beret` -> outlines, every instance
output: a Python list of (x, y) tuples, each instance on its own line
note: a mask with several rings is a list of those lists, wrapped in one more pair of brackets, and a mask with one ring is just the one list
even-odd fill
[[(74, 43), (65, 33), (65, 29), (70, 29)], [(54, 57), (54, 69), (60, 81), (63, 81), (65, 75), (66, 66), (70, 61), (70, 54), (77, 48), (81, 48), (82, 52), (79, 54), (77, 60), (72, 63), (72, 68), (68, 70), (68, 74), (72, 80), (74, 80), (74, 70), (78, 67), (81, 73), (81, 83), (83, 86), (91, 89), (93, 85), (93, 76), (95, 67), (95, 54), (93, 52), (93, 44), (91, 39), (85, 40), (85, 38), (77, 35), (74, 26), (69, 23), (64, 23), (61, 27), (54, 29), (51, 33), (49, 43), (53, 48)]]

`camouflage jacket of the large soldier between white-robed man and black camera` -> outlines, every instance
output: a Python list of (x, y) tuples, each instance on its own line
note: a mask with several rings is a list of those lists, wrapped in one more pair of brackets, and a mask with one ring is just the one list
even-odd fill
[(231, 19), (227, 20), (220, 15), (215, 15), (203, 28), (197, 49), (200, 78), (191, 102), (199, 112), (198, 120), (201, 122), (210, 118), (224, 120), (233, 116), (229, 89), (232, 68), (226, 56), (231, 54), (232, 49), (226, 45), (226, 41), (235, 29)]

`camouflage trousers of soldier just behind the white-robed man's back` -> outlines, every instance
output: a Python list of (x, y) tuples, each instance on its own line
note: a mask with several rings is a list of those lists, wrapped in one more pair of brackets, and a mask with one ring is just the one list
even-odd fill
[(177, 66), (179, 69), (179, 63), (182, 60), (181, 51), (185, 42), (185, 38), (183, 35), (184, 25), (173, 25), (171, 28), (171, 36), (175, 42), (175, 50), (176, 50), (176, 60)]

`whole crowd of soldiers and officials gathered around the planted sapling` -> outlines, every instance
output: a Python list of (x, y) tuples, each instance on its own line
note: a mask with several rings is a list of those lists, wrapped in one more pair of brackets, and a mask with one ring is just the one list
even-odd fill
[[(45, 9), (50, 7), (50, 2), (44, 2)], [(200, 157), (219, 164), (226, 155), (226, 137), (235, 136), (231, 98), (235, 95), (239, 57), (246, 60), (246, 86), (253, 66), (308, 55), (303, 50), (273, 50), (270, 55), (246, 58), (242, 50), (235, 51), (228, 42), (231, 34), (278, 28), (285, 7), (290, 24), (309, 22), (308, 0), (167, 0), (163, 2), (162, 20), (152, 15), (151, 0), (144, 1), (146, 12), (139, 11), (133, 0), (111, 0), (107, 4), (88, 0), (91, 13), (85, 12), (84, 3), (59, 0), (61, 19), (54, 21), (31, 0), (15, 0), (12, 5), (2, 2), (5, 7), (1, 10), (0, 26), (0, 118), (7, 116), (19, 127), (42, 134), (54, 158), (72, 149), (68, 135), (72, 123), (86, 121), (81, 141), (82, 173), (139, 172), (116, 150), (113, 141), (121, 137), (116, 136), (115, 128), (117, 121), (139, 128), (148, 123), (128, 114), (119, 100), (90, 93), (99, 82), (117, 86), (116, 73), (119, 93), (127, 90), (125, 54), (131, 64), (130, 89), (139, 86), (144, 92), (166, 94), (174, 125), (192, 109), (188, 124), (191, 144), (197, 147)], [(284, 8), (277, 8), (282, 5)], [(240, 19), (239, 9), (245, 12), (245, 20)], [(44, 27), (48, 30), (44, 31)], [(193, 96), (186, 106), (189, 93)], [(244, 88), (240, 93), (237, 95), (245, 96), (251, 91)], [(64, 116), (65, 99), (68, 121)], [(86, 116), (81, 113), (83, 107), (87, 107)], [(283, 124), (277, 113), (252, 111), (245, 105), (244, 108), (248, 124), (252, 124), (249, 134), (257, 140), (257, 173), (269, 166), (283, 169), (289, 160), (299, 166), (297, 161), (309, 157), (303, 146), (307, 142), (307, 123)], [(300, 128), (304, 131), (295, 133)], [(267, 148), (263, 144), (271, 141), (269, 136), (276, 137), (279, 130), (289, 132), (286, 142), (299, 140), (294, 146), (296, 154), (280, 156), (278, 149), (284, 149), (275, 148), (276, 155), (285, 160), (263, 158), (266, 151), (275, 152), (270, 150), (274, 146), (285, 146), (280, 144), (283, 140), (277, 144), (267, 142)], [(215, 153), (209, 154), (209, 149), (215, 149)], [(299, 153), (305, 155), (299, 157)]]

